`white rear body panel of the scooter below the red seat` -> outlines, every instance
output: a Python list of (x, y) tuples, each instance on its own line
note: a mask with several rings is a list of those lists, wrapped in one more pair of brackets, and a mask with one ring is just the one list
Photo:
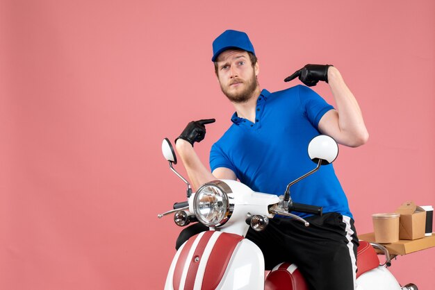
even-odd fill
[(379, 266), (356, 279), (356, 290), (400, 290), (400, 284), (384, 266)]

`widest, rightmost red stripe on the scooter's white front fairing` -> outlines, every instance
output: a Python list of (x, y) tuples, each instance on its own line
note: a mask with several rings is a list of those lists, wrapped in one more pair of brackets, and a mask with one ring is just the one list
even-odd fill
[(216, 241), (213, 250), (208, 258), (204, 279), (202, 280), (202, 289), (216, 289), (220, 280), (224, 276), (229, 259), (238, 243), (243, 240), (238, 234), (228, 234), (223, 232)]

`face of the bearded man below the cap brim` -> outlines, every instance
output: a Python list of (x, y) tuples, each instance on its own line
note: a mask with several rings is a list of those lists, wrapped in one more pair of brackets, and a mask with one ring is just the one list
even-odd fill
[(217, 79), (225, 96), (233, 103), (245, 103), (258, 87), (258, 62), (252, 67), (246, 51), (227, 50), (217, 58)]

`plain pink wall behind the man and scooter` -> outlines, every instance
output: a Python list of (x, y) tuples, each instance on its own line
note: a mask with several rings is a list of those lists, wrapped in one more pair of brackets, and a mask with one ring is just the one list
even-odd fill
[[(340, 69), (370, 132), (336, 162), (360, 233), (404, 201), (435, 205), (434, 3), (1, 1), (0, 289), (163, 288), (180, 228), (156, 216), (185, 187), (161, 140), (214, 117), (207, 162), (229, 126), (210, 61), (227, 28), (249, 33), (271, 91), (306, 63)], [(433, 289), (434, 260), (391, 271)]]

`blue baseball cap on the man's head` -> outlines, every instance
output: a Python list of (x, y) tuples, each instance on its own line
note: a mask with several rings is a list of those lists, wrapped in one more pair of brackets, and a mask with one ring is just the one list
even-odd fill
[(227, 49), (242, 49), (254, 53), (255, 56), (254, 46), (252, 46), (249, 37), (241, 31), (228, 30), (219, 35), (213, 41), (213, 58), (211, 58), (211, 61), (215, 62), (217, 56)]

